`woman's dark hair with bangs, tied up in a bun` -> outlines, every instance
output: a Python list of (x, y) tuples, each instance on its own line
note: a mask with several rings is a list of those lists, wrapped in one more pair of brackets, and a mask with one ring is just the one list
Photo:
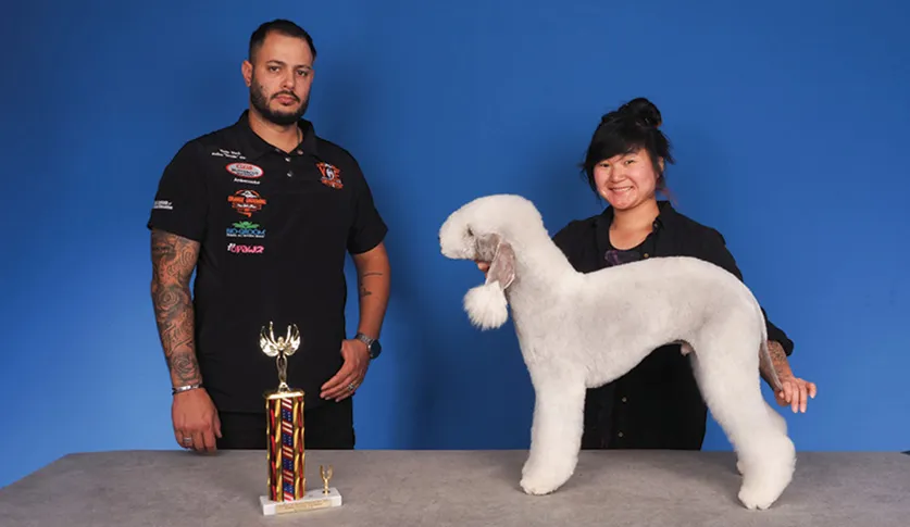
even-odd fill
[(595, 195), (594, 167), (613, 155), (626, 154), (645, 149), (651, 158), (658, 175), (657, 190), (666, 191), (666, 178), (660, 167), (660, 160), (673, 163), (670, 141), (658, 128), (662, 124), (660, 111), (651, 101), (639, 97), (603, 115), (594, 131), (582, 168)]

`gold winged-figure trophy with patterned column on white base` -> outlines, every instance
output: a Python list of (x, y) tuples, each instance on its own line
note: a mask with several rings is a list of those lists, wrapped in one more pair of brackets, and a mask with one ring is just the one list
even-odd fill
[(306, 449), (303, 447), (303, 391), (287, 384), (287, 361), (300, 347), (297, 325), (287, 335), (275, 338), (272, 323), (259, 334), (259, 347), (266, 356), (275, 357), (278, 388), (265, 393), (266, 456), (269, 461), (269, 494), (260, 497), (266, 516), (297, 511), (339, 506), (341, 494), (328, 487), (332, 468), (320, 467), (323, 489), (307, 490)]

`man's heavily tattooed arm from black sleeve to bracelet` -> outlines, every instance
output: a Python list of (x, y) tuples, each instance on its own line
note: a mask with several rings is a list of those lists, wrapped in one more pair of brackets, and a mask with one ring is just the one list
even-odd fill
[(154, 317), (173, 386), (202, 381), (196, 360), (189, 279), (199, 242), (153, 229), (151, 296)]

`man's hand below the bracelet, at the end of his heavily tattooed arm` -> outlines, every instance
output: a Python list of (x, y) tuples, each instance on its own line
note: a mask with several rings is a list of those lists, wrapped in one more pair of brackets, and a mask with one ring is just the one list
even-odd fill
[[(197, 452), (215, 451), (215, 437), (221, 437), (221, 421), (204, 388), (175, 393), (171, 418), (177, 444)], [(186, 438), (192, 440), (187, 441)]]

